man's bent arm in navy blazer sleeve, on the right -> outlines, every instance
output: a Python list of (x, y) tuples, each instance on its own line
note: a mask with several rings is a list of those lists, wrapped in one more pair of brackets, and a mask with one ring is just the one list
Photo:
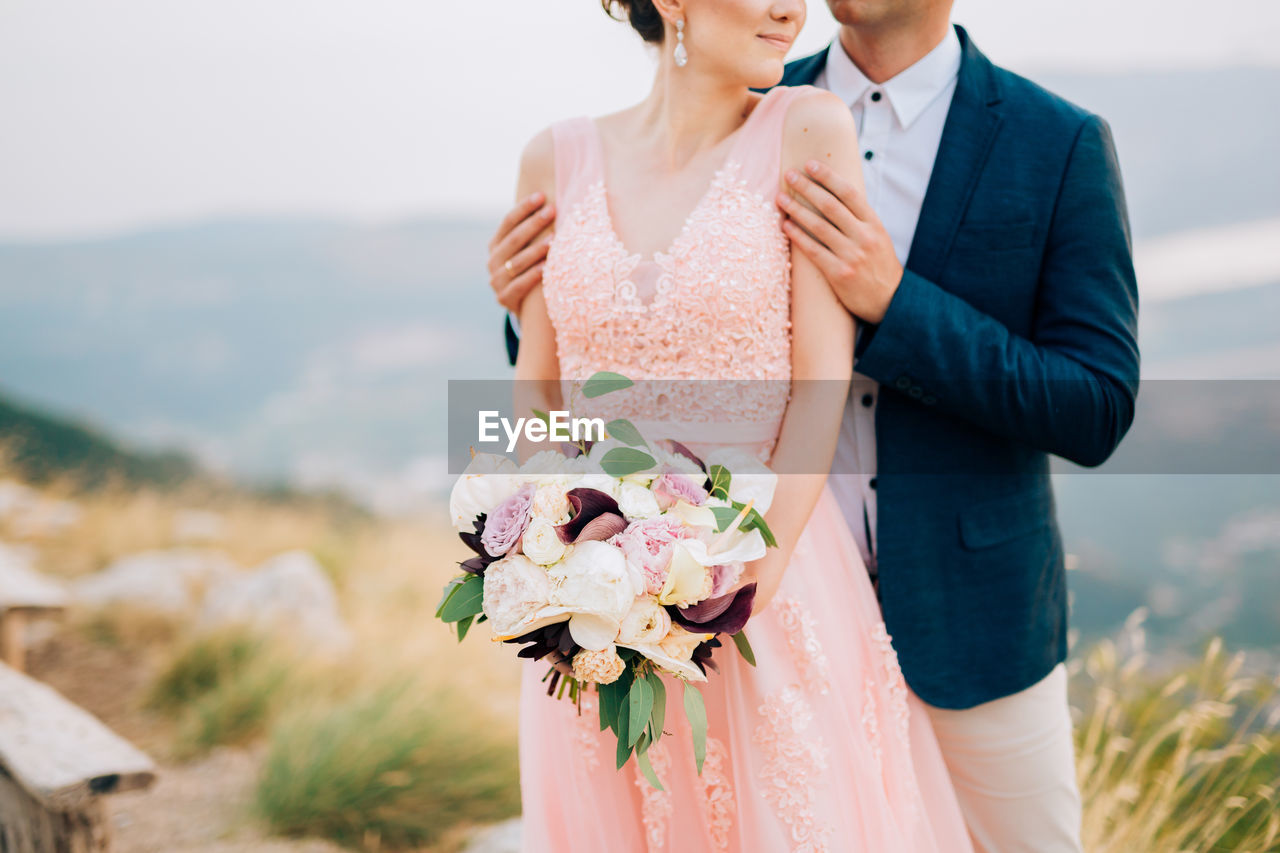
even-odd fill
[(859, 337), (858, 371), (992, 433), (1101, 465), (1133, 423), (1137, 318), (1119, 163), (1110, 128), (1091, 115), (1051, 220), (1030, 338), (906, 270)]

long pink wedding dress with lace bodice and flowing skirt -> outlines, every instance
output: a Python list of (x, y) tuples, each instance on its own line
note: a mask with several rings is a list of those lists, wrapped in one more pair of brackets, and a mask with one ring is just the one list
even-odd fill
[[(631, 414), (707, 425), (716, 405), (705, 396), (716, 403), (719, 394), (735, 423), (712, 434), (768, 457), (791, 373), (788, 241), (772, 200), (786, 106), (805, 88), (774, 88), (758, 102), (684, 232), (648, 261), (627, 251), (611, 223), (595, 123), (554, 126), (561, 216), (543, 288), (563, 379), (596, 370), (717, 379), (701, 383), (710, 389), (696, 403), (632, 401)], [(710, 447), (689, 443), (695, 452)], [(614, 768), (616, 738), (600, 731), (594, 694), (579, 716), (567, 699), (547, 695), (545, 663), (526, 665), (525, 849), (972, 850), (933, 730), (908, 693), (858, 546), (827, 488), (777, 597), (746, 633), (758, 666), (726, 643), (713, 658), (719, 674), (699, 684), (709, 722), (700, 776), (681, 685), (664, 676), (669, 734), (649, 753), (664, 792), (635, 760)]]

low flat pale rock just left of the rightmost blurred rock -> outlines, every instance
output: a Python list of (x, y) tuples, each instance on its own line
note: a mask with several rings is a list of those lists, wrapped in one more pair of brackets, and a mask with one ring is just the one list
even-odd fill
[(81, 578), (72, 592), (77, 603), (91, 607), (125, 603), (182, 615), (195, 610), (206, 589), (237, 573), (238, 566), (221, 551), (157, 548), (115, 560)]

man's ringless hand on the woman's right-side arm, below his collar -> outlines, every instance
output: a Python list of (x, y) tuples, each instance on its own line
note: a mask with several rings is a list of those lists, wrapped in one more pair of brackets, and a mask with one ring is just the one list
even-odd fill
[(902, 280), (893, 241), (858, 184), (815, 160), (805, 170), (786, 172), (791, 193), (806, 204), (778, 193), (778, 207), (787, 215), (782, 229), (850, 314), (879, 323)]

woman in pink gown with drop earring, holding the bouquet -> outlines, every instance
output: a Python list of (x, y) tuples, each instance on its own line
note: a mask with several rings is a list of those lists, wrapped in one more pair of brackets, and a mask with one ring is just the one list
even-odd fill
[[(731, 438), (783, 473), (765, 514), (778, 547), (748, 565), (758, 666), (718, 648), (719, 671), (703, 685), (700, 775), (678, 690), (667, 692), (677, 703), (669, 736), (650, 751), (658, 790), (634, 762), (614, 768), (612, 734), (599, 731), (590, 702), (579, 716), (547, 698), (545, 665), (526, 665), (525, 848), (970, 850), (928, 717), (909, 698), (826, 484), (855, 320), (791, 251), (773, 199), (785, 170), (809, 160), (860, 183), (858, 141), (829, 92), (753, 91), (782, 78), (805, 5), (604, 6), (620, 6), (657, 46), (658, 70), (640, 104), (558, 122), (525, 149), (520, 195), (541, 192), (559, 214), (541, 284), (520, 307), (520, 402), (558, 409), (559, 380), (599, 370), (730, 383), (721, 387), (733, 388), (732, 435), (690, 443), (704, 452)], [(684, 402), (641, 414), (717, 420), (714, 406)]]

